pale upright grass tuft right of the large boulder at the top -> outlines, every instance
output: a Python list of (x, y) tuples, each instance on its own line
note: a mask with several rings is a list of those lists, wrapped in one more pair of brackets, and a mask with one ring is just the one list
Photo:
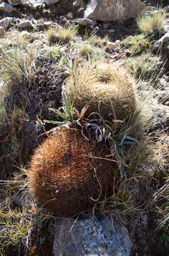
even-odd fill
[(140, 14), (136, 18), (136, 25), (141, 33), (149, 35), (155, 33), (161, 33), (163, 31), (163, 25), (165, 23), (166, 13), (163, 9), (152, 11), (151, 14)]

